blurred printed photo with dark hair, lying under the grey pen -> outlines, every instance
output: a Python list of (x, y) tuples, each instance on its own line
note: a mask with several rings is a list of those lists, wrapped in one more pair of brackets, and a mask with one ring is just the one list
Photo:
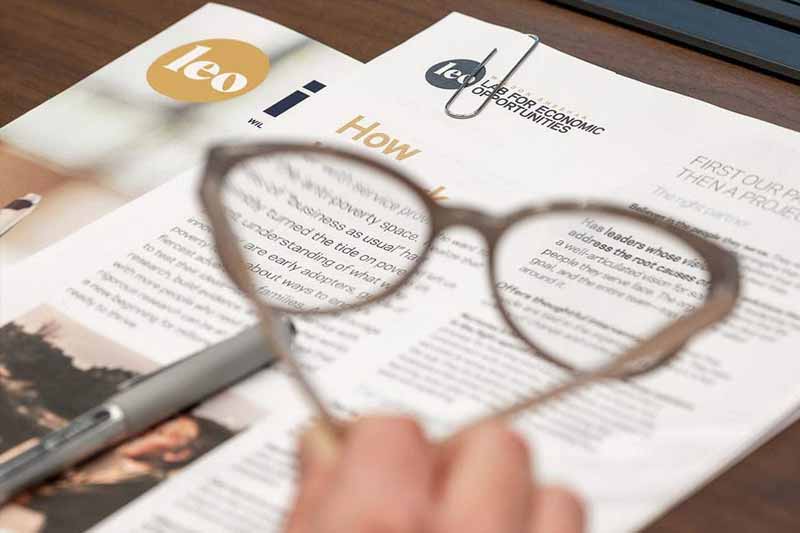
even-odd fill
[[(100, 405), (152, 361), (48, 306), (0, 328), (0, 463)], [(263, 413), (220, 396), (0, 508), (0, 530), (84, 530), (178, 473)]]

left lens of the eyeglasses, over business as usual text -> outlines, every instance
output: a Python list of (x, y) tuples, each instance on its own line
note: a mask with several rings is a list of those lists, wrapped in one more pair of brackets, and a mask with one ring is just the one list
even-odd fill
[(257, 294), (288, 311), (341, 309), (391, 290), (431, 238), (416, 190), (335, 155), (244, 161), (222, 201)]

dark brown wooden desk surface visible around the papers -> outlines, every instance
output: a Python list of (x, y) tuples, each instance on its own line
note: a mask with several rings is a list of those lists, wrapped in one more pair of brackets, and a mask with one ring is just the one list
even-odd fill
[[(0, 124), (187, 15), (203, 0), (1, 0)], [(625, 76), (800, 131), (800, 86), (540, 0), (227, 0), (361, 61), (450, 11), (535, 32)], [(800, 386), (800, 379), (798, 380)], [(655, 522), (651, 533), (800, 531), (800, 424)]]

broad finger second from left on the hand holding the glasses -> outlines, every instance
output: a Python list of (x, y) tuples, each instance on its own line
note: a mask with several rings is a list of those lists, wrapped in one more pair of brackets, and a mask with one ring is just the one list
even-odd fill
[(410, 419), (359, 420), (347, 433), (334, 474), (336, 491), (323, 504), (317, 531), (423, 531), (434, 453)]

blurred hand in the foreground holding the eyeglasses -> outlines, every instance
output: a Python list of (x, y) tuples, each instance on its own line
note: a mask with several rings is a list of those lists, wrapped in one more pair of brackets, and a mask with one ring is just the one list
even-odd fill
[(581, 533), (572, 493), (536, 485), (528, 447), (499, 422), (443, 444), (405, 418), (312, 428), (286, 533)]

